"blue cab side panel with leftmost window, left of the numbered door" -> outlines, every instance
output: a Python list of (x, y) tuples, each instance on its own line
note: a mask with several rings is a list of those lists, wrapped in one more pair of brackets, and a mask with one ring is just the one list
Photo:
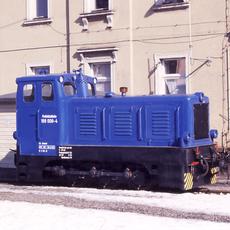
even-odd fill
[(17, 139), (20, 154), (34, 155), (37, 152), (37, 87), (35, 82), (18, 84)]

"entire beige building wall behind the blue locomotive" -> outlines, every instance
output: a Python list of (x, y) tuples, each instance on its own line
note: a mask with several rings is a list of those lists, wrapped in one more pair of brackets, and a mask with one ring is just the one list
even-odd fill
[(92, 63), (110, 63), (112, 91), (127, 86), (129, 95), (159, 94), (162, 63), (183, 58), (186, 93), (209, 96), (211, 128), (218, 129), (219, 142), (229, 133), (229, 0), (188, 0), (167, 9), (154, 7), (154, 0), (109, 0), (102, 13), (89, 13), (86, 0), (50, 0), (49, 22), (35, 24), (26, 20), (27, 0), (13, 2), (1, 1), (0, 95), (15, 92), (16, 77), (31, 73), (31, 66), (67, 70), (69, 2), (71, 70), (92, 73)]

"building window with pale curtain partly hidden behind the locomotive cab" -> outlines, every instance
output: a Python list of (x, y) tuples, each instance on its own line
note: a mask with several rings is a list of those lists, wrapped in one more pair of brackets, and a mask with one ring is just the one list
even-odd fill
[(97, 91), (111, 92), (111, 64), (89, 63), (91, 75), (97, 78)]

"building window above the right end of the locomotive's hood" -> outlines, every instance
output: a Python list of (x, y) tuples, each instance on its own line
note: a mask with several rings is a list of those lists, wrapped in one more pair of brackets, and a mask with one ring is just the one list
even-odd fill
[(158, 94), (186, 94), (186, 59), (160, 59), (157, 78)]

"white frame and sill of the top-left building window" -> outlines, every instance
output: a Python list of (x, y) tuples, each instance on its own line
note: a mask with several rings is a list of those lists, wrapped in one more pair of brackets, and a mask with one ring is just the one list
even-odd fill
[(29, 25), (51, 22), (51, 1), (52, 0), (47, 0), (47, 17), (38, 17), (36, 13), (36, 0), (27, 0), (27, 17), (24, 24)]

